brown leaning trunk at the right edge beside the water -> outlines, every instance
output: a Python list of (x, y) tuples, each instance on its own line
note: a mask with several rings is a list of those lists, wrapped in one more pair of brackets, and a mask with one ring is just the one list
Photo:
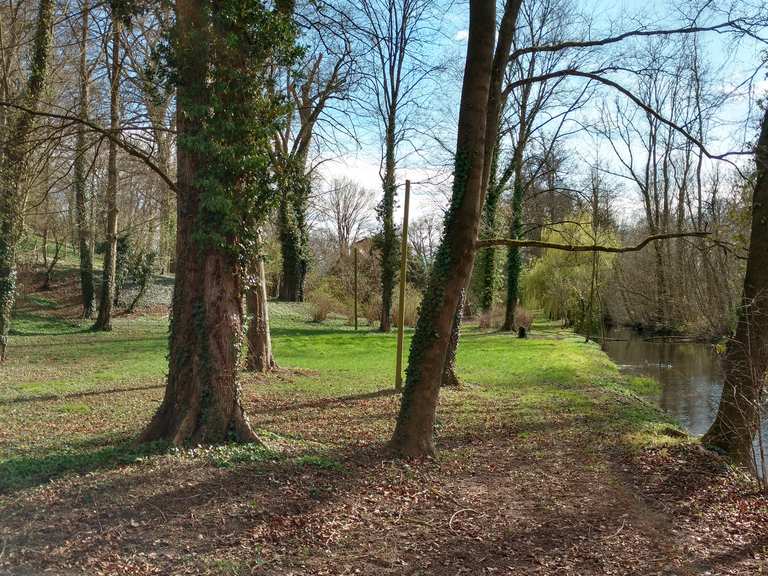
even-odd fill
[(768, 110), (756, 149), (752, 230), (736, 334), (723, 364), (723, 394), (702, 442), (751, 464), (768, 370)]

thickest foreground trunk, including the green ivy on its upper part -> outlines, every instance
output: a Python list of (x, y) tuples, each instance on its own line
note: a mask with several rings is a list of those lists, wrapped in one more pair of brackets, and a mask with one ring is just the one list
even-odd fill
[(271, 67), (293, 27), (260, 2), (178, 0), (177, 242), (165, 396), (143, 440), (257, 441), (240, 398), (243, 263), (274, 196), (271, 140), (287, 107)]

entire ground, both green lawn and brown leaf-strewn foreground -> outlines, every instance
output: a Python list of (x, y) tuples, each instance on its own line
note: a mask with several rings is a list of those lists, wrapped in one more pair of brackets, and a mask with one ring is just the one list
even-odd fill
[(469, 326), (435, 460), (386, 449), (394, 335), (271, 308), (243, 374), (266, 447), (136, 446), (167, 318), (109, 334), (22, 300), (0, 368), (0, 574), (768, 574), (768, 500), (594, 344)]

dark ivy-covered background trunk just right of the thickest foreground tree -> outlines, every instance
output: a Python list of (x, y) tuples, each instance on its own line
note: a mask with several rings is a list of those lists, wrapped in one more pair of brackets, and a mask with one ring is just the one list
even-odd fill
[(309, 269), (307, 209), (311, 183), (305, 173), (306, 158), (289, 158), (281, 177), (282, 194), (278, 223), (282, 251), (280, 300), (304, 301), (304, 281)]

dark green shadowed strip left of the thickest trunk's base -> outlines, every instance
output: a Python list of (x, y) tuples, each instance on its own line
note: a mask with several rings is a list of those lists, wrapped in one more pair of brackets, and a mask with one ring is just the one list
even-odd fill
[(67, 474), (87, 474), (131, 464), (139, 458), (160, 454), (168, 444), (155, 442), (135, 445), (132, 438), (122, 437), (116, 443), (88, 450), (103, 439), (89, 439), (81, 445), (46, 454), (11, 456), (0, 460), (0, 495), (32, 488)]

